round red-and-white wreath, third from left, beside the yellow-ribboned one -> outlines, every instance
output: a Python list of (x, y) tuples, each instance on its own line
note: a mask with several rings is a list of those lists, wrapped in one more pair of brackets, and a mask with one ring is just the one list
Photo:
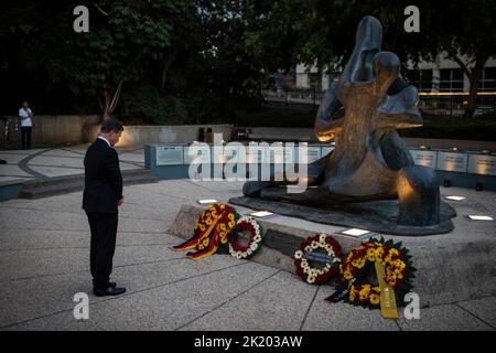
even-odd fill
[[(330, 235), (308, 237), (294, 253), (296, 275), (309, 284), (323, 284), (337, 272), (341, 263), (341, 245)], [(321, 264), (311, 266), (311, 263)]]

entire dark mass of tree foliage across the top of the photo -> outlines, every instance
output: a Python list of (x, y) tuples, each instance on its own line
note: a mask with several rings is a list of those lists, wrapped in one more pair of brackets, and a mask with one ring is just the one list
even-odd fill
[[(88, 33), (73, 30), (80, 4), (89, 10)], [(410, 4), (420, 9), (419, 33), (403, 30)], [(278, 69), (342, 64), (366, 14), (382, 22), (384, 50), (403, 62), (445, 52), (475, 94), (485, 62), (496, 56), (495, 7), (492, 0), (6, 0), (0, 111), (29, 99), (45, 114), (115, 108), (125, 119), (157, 124), (226, 121), (234, 108), (258, 104)]]

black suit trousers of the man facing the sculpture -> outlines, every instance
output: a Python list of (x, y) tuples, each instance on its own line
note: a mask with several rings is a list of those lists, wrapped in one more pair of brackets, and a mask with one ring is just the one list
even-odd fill
[(112, 272), (112, 259), (116, 250), (117, 213), (86, 212), (91, 240), (89, 248), (89, 268), (93, 287), (105, 290), (109, 287)]

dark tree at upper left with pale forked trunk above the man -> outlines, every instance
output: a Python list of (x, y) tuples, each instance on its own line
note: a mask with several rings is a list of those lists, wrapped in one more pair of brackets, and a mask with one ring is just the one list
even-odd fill
[[(164, 61), (173, 26), (191, 11), (190, 1), (86, 2), (90, 10), (88, 33), (73, 31), (73, 8), (77, 4), (82, 3), (11, 4), (8, 21), (26, 44), (14, 52), (32, 76), (43, 76), (48, 85), (63, 86), (76, 96), (95, 97), (103, 117), (108, 117), (122, 85), (138, 81), (150, 62)], [(22, 19), (14, 15), (19, 12)], [(25, 28), (33, 30), (22, 32)]]

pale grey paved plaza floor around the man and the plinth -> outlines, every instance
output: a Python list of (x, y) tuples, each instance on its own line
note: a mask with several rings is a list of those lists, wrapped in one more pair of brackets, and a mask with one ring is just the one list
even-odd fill
[[(4, 178), (82, 173), (85, 148), (2, 151)], [(37, 153), (37, 154), (36, 154)], [(120, 149), (121, 168), (142, 168), (140, 149)], [(19, 161), (25, 163), (19, 165)], [(132, 167), (133, 165), (133, 167)], [(7, 169), (4, 169), (7, 167)], [(28, 169), (26, 169), (28, 168)], [(40, 176), (40, 175), (39, 175)], [(288, 271), (229, 255), (194, 261), (170, 249), (166, 234), (184, 203), (227, 201), (242, 183), (190, 180), (125, 188), (112, 280), (119, 297), (97, 298), (89, 275), (89, 227), (82, 192), (0, 202), (0, 330), (494, 330), (496, 297), (421, 308), (419, 320), (387, 320), (378, 310), (327, 304), (334, 288), (310, 286)], [(441, 188), (495, 216), (496, 193)], [(194, 220), (192, 220), (194, 222)], [(455, 227), (470, 229), (463, 216)], [(494, 223), (488, 232), (495, 233)], [(77, 292), (89, 295), (89, 319), (73, 314)]]

